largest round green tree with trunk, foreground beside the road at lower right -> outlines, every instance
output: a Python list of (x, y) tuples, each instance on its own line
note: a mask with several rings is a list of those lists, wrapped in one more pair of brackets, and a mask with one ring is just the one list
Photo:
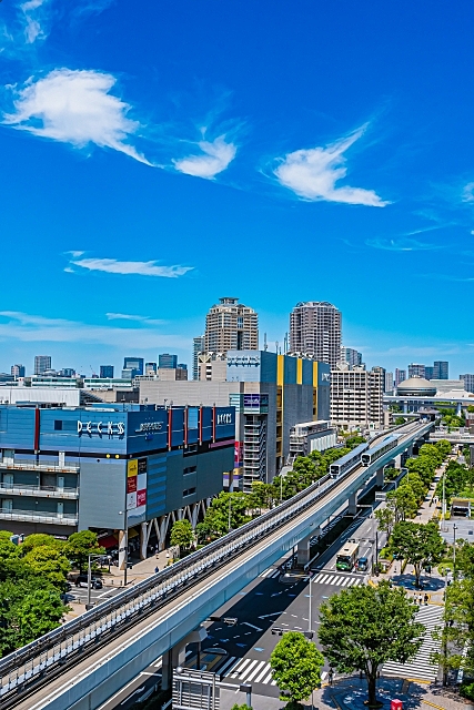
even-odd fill
[(377, 670), (382, 663), (406, 663), (418, 651), (424, 627), (414, 621), (417, 607), (403, 589), (383, 581), (352, 587), (320, 608), (319, 638), (330, 663), (342, 673), (363, 671), (369, 707), (376, 707)]

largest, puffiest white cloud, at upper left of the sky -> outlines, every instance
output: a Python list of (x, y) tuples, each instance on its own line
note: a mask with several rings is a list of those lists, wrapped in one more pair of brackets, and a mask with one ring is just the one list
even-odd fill
[(150, 165), (129, 142), (140, 128), (131, 105), (110, 91), (117, 79), (94, 70), (56, 69), (16, 89), (14, 112), (3, 123), (33, 135), (85, 148), (93, 143)]

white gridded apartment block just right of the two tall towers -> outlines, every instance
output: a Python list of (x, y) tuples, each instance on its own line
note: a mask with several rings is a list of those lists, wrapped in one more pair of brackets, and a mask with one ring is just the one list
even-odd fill
[(383, 428), (383, 367), (339, 363), (331, 371), (331, 423), (342, 429)]

